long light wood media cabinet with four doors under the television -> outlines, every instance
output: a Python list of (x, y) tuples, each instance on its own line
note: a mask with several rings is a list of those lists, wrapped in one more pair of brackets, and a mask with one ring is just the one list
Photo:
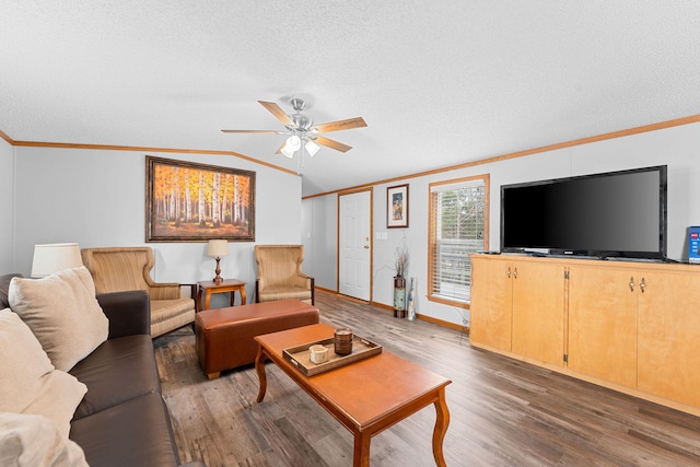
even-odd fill
[(472, 346), (700, 416), (700, 266), (470, 258)]

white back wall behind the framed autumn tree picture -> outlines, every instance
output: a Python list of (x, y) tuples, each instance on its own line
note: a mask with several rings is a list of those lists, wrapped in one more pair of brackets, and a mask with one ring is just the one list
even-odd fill
[[(81, 248), (151, 246), (156, 281), (213, 278), (215, 265), (206, 256), (206, 243), (145, 243), (144, 153), (50, 148), (15, 148), (15, 152), (13, 271), (31, 272), (37, 243), (78, 242)], [(149, 154), (256, 172), (255, 243), (301, 242), (300, 177), (234, 156)], [(221, 259), (222, 276), (247, 283), (248, 302), (257, 275), (255, 243), (230, 243), (230, 256)]]

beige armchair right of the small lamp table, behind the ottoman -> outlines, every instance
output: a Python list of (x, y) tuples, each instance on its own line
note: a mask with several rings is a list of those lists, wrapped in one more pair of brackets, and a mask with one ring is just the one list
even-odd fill
[(314, 278), (302, 272), (304, 245), (256, 245), (255, 301), (298, 299), (314, 305)]

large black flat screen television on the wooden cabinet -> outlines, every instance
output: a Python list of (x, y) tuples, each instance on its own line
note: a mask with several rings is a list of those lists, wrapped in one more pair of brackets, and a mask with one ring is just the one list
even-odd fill
[(665, 259), (666, 171), (503, 185), (501, 250)]

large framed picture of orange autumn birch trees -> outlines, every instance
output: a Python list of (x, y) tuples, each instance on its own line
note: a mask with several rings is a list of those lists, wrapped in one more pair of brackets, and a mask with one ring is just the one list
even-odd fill
[(145, 156), (145, 242), (255, 242), (255, 172)]

